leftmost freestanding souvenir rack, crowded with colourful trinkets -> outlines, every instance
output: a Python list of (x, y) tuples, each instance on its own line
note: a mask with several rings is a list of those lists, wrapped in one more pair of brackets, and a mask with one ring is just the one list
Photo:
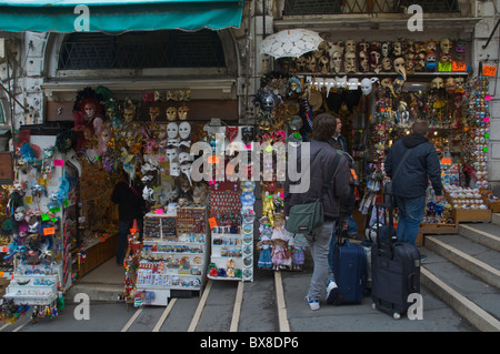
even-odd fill
[(64, 135), (41, 127), (17, 132), (12, 151), (13, 183), (2, 189), (2, 235), (9, 240), (2, 261), (11, 265), (2, 318), (53, 318), (63, 310), (63, 292), (72, 281), (72, 222), (66, 210), (76, 203), (78, 179), (71, 171), (79, 162)]

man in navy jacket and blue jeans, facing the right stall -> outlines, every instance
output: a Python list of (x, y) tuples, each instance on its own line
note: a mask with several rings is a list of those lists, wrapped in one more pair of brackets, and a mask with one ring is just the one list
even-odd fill
[[(386, 159), (386, 173), (392, 180), (392, 194), (399, 210), (397, 237), (416, 245), (420, 221), (426, 209), (426, 192), (429, 180), (437, 202), (443, 200), (441, 165), (434, 145), (427, 139), (429, 129), (426, 121), (417, 121), (410, 134), (396, 141)], [(398, 175), (393, 175), (404, 152), (411, 149), (402, 162)]]

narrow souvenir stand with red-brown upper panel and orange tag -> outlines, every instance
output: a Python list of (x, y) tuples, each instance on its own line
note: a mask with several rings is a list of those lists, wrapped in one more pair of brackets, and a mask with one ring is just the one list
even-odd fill
[(253, 182), (210, 184), (211, 255), (209, 279), (253, 280)]

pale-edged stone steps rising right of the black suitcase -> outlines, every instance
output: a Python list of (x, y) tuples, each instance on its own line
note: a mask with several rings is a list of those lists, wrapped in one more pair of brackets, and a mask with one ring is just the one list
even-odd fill
[(500, 332), (500, 214), (460, 224), (458, 234), (426, 235), (423, 246), (421, 284), (479, 331)]

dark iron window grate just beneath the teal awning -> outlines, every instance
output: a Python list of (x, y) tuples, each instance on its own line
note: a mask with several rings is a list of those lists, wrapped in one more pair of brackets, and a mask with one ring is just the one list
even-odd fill
[(226, 57), (214, 31), (72, 33), (62, 43), (58, 69), (222, 68)]

